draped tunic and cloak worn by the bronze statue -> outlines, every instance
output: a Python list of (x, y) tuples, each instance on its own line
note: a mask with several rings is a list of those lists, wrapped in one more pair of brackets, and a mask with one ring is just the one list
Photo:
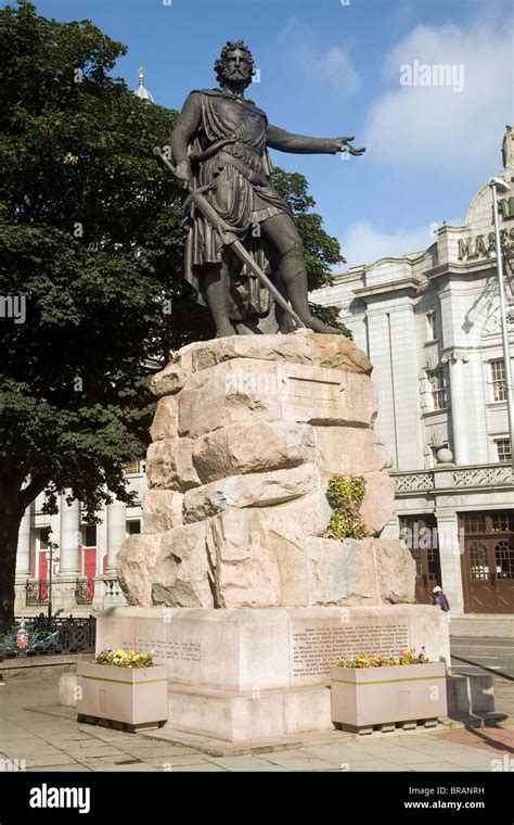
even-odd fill
[[(229, 266), (231, 275), (235, 275), (233, 282), (236, 290), (237, 282), (245, 284), (243, 291), (247, 309), (262, 314), (270, 306), (269, 292), (246, 270), (235, 254), (227, 250), (226, 244), (235, 239), (244, 241), (260, 268), (268, 275), (273, 271), (259, 237), (259, 223), (271, 215), (292, 213), (269, 180), (271, 161), (266, 151), (267, 117), (254, 103), (223, 90), (209, 89), (195, 93), (201, 96), (202, 123), (189, 147), (189, 154), (204, 152), (223, 139), (230, 138), (235, 142), (222, 147), (213, 157), (200, 164), (193, 163), (194, 188), (205, 187), (216, 179), (217, 189), (205, 196), (230, 227), (230, 232), (223, 232), (221, 238), (193, 205), (185, 217), (184, 275), (196, 291), (200, 303), (205, 304), (201, 290), (201, 267), (209, 264)], [(232, 158), (235, 165), (232, 165)], [(252, 176), (252, 181), (246, 175)], [(247, 310), (241, 313), (236, 306), (232, 309), (232, 317), (247, 314)]]

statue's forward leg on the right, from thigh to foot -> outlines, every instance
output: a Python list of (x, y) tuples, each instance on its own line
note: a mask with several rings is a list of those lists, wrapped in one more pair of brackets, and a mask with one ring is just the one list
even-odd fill
[(272, 215), (262, 221), (261, 231), (279, 256), (280, 275), (295, 313), (308, 329), (339, 335), (338, 329), (329, 327), (310, 314), (304, 244), (293, 218), (286, 213)]

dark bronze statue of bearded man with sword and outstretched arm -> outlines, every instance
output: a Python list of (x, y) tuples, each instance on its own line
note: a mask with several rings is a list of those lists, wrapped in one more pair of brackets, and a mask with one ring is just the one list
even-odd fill
[[(218, 338), (271, 331), (260, 323), (270, 314), (271, 296), (233, 253), (231, 244), (241, 241), (306, 327), (337, 333), (309, 312), (301, 240), (288, 205), (271, 185), (267, 148), (352, 155), (365, 149), (349, 145), (351, 137), (311, 138), (271, 126), (265, 112), (244, 98), (255, 67), (241, 40), (224, 46), (215, 71), (221, 88), (192, 91), (170, 139), (179, 186), (204, 190), (223, 221), (223, 230), (216, 228), (189, 201), (185, 278), (208, 305)], [(283, 317), (277, 318), (284, 328)]]

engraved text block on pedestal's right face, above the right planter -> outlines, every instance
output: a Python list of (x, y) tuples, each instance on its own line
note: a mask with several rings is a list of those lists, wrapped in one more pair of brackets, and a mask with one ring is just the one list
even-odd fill
[(397, 656), (408, 647), (407, 624), (307, 627), (293, 633), (293, 677), (327, 676), (342, 656)]

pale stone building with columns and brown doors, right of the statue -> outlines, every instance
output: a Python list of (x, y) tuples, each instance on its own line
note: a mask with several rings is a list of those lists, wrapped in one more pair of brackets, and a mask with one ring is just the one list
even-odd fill
[[(511, 127), (502, 157), (499, 177), (512, 189), (499, 195), (500, 229), (514, 309)], [(312, 299), (342, 307), (373, 364), (374, 429), (397, 490), (383, 535), (409, 544), (417, 599), (428, 601), (439, 584), (454, 613), (514, 612), (514, 484), (488, 181), (464, 224), (439, 227), (428, 249), (355, 266)]]

